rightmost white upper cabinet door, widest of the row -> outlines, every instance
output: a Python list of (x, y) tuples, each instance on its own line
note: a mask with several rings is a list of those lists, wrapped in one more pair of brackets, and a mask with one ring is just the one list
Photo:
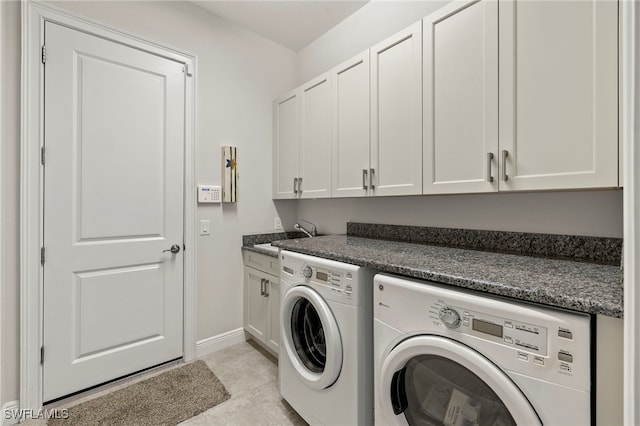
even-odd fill
[(500, 190), (617, 186), (618, 2), (499, 7)]

